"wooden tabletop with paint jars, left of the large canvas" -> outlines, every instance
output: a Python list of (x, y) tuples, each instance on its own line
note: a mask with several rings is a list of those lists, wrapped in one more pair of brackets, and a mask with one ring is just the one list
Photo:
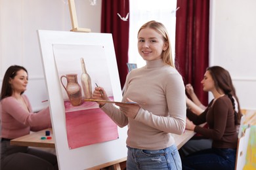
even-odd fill
[[(45, 131), (50, 131), (50, 137), (52, 139), (41, 139), (41, 137), (45, 136)], [(55, 148), (54, 137), (53, 137), (53, 129), (44, 129), (42, 131), (33, 132), (29, 135), (25, 135), (23, 137), (18, 137), (16, 139), (12, 139), (10, 142), (11, 145), (18, 146), (35, 146), (42, 148)]]

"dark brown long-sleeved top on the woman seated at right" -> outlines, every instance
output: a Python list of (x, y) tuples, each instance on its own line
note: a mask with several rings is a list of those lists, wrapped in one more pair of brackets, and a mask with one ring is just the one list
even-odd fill
[(212, 100), (199, 116), (192, 112), (187, 112), (187, 116), (196, 125), (207, 122), (208, 128), (196, 126), (194, 131), (213, 139), (213, 148), (237, 147), (238, 133), (234, 122), (234, 109), (228, 95), (219, 97), (215, 103)]

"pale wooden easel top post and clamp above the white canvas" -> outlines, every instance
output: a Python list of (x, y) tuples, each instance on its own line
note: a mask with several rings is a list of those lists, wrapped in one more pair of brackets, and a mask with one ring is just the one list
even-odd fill
[(72, 29), (70, 31), (85, 32), (85, 33), (91, 32), (91, 29), (89, 28), (78, 27), (76, 10), (75, 10), (75, 0), (68, 0), (68, 6), (70, 8), (70, 17), (72, 22)]

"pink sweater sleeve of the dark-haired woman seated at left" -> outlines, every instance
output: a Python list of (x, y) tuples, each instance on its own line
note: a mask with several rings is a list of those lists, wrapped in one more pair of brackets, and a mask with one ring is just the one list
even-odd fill
[(24, 95), (24, 100), (26, 101), (30, 112), (24, 110), (22, 105), (20, 105), (20, 103), (18, 103), (14, 97), (7, 97), (3, 99), (2, 109), (21, 124), (30, 126), (32, 131), (38, 131), (47, 127), (51, 127), (49, 107), (37, 113), (33, 113), (31, 110), (30, 101), (28, 101), (26, 95)]

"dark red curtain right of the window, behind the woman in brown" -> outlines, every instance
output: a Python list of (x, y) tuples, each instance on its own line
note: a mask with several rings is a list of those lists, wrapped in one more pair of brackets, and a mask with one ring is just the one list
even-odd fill
[(209, 0), (177, 0), (175, 64), (203, 105), (208, 93), (201, 80), (209, 66)]

